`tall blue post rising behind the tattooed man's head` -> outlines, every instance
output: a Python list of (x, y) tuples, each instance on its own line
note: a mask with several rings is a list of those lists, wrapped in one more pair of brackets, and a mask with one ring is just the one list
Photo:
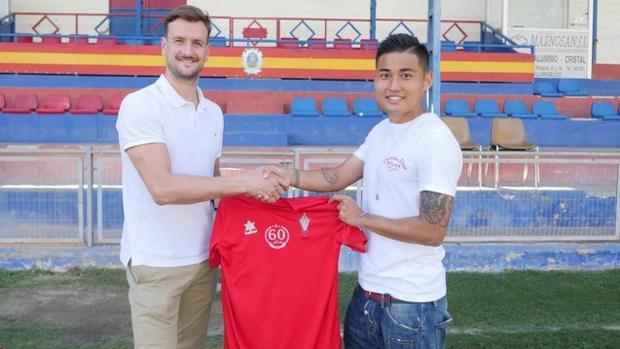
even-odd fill
[(437, 115), (441, 115), (441, 75), (439, 67), (441, 65), (441, 0), (428, 0), (428, 30), (426, 45), (430, 50), (431, 61), (430, 70), (433, 72), (433, 86), (427, 91), (430, 94), (428, 107)]

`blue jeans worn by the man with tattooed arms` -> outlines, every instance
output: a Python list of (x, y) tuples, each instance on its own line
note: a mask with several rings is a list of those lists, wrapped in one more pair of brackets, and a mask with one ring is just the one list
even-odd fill
[(358, 285), (344, 320), (346, 349), (443, 349), (452, 321), (448, 301), (391, 303), (368, 299)]

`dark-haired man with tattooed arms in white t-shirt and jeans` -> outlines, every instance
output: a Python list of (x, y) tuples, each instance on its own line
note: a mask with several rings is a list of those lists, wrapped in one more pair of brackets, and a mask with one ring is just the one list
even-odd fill
[(300, 171), (269, 166), (305, 190), (339, 191), (363, 178), (362, 207), (335, 195), (340, 219), (364, 229), (358, 281), (347, 309), (348, 349), (444, 348), (446, 273), (441, 246), (462, 167), (457, 141), (422, 107), (432, 76), (417, 38), (395, 34), (376, 55), (375, 94), (388, 118), (339, 166)]

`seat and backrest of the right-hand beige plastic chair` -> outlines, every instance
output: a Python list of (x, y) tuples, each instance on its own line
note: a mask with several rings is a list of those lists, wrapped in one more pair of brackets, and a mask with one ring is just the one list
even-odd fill
[(493, 119), (491, 148), (496, 150), (537, 150), (527, 141), (523, 120), (515, 118)]

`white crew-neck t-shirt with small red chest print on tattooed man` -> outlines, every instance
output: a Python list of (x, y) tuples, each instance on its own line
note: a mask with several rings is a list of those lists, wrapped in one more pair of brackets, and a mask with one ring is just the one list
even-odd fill
[[(435, 114), (403, 124), (385, 119), (354, 153), (364, 161), (362, 209), (392, 219), (419, 216), (420, 192), (450, 196), (462, 167), (458, 142)], [(367, 291), (411, 302), (446, 294), (442, 246), (401, 242), (366, 230), (359, 283)]]

